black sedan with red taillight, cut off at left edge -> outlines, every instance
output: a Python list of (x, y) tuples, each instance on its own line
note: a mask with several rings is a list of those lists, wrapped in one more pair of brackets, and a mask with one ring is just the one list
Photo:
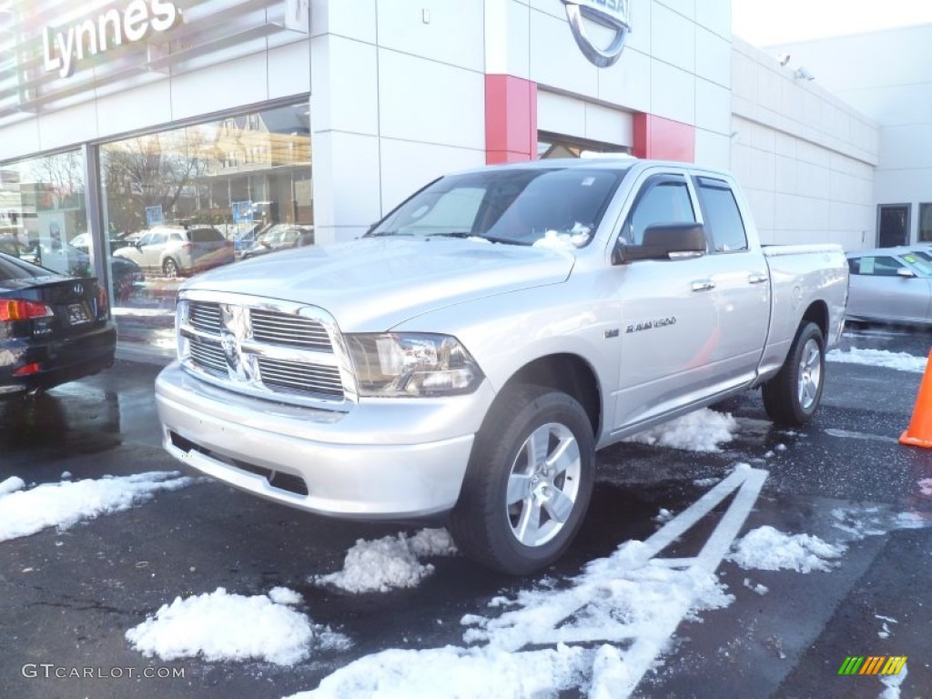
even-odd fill
[(96, 374), (116, 347), (97, 280), (0, 253), (0, 399)]

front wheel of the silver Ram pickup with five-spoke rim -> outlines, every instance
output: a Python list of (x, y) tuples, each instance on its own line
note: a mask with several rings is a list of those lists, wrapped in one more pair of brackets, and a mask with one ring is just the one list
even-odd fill
[[(536, 459), (535, 445), (544, 445)], [(517, 386), (493, 404), (476, 435), (450, 514), (454, 541), (490, 569), (543, 569), (582, 525), (595, 471), (595, 436), (583, 406), (561, 391)]]

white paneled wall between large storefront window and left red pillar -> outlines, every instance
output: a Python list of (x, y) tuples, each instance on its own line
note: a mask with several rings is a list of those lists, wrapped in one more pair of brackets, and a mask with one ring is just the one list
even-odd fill
[(439, 175), (485, 164), (484, 31), (481, 2), (311, 3), (317, 240), (356, 237)]

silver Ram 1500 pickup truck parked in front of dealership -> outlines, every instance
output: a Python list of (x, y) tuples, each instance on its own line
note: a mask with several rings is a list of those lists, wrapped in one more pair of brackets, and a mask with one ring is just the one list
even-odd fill
[(812, 416), (847, 269), (761, 248), (721, 171), (443, 177), (362, 239), (187, 281), (164, 445), (310, 512), (444, 516), (465, 555), (527, 573), (580, 527), (596, 449), (756, 387), (775, 421)]

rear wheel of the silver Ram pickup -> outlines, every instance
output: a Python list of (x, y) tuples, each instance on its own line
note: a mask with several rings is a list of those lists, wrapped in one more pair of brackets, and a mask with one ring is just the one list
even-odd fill
[(806, 322), (780, 371), (761, 389), (764, 410), (777, 424), (798, 427), (816, 412), (824, 385), (825, 338), (815, 322)]

